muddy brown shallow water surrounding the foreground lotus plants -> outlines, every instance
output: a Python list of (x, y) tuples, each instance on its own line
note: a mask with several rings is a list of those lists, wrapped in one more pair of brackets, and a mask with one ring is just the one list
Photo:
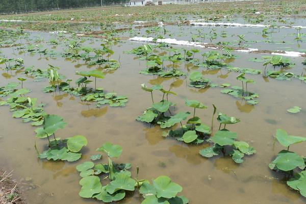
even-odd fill
[[(44, 34), (44, 37), (49, 34)], [(95, 42), (99, 45), (99, 41)], [(268, 164), (274, 159), (281, 145), (274, 145), (273, 134), (276, 129), (285, 129), (292, 135), (305, 136), (305, 96), (306, 83), (298, 79), (278, 81), (264, 79), (261, 74), (246, 74), (254, 79), (256, 84), (248, 89), (259, 93), (259, 104), (246, 105), (245, 101), (220, 93), (221, 88), (195, 89), (188, 86), (188, 78), (158, 78), (152, 75), (142, 75), (138, 72), (145, 68), (145, 61), (135, 59), (134, 55), (122, 53), (141, 45), (141, 43), (124, 41), (112, 48), (115, 54), (112, 58), (120, 60), (121, 67), (106, 74), (105, 79), (97, 80), (97, 86), (108, 92), (115, 91), (119, 95), (127, 95), (129, 102), (126, 107), (114, 108), (103, 106), (95, 108), (94, 104), (84, 104), (79, 97), (66, 93), (43, 93), (42, 88), (47, 81), (33, 82), (28, 79), (24, 87), (32, 90), (31, 97), (37, 97), (44, 103), (45, 111), (64, 118), (68, 125), (57, 132), (57, 137), (70, 137), (81, 134), (87, 137), (88, 145), (82, 149), (82, 159), (73, 162), (53, 162), (37, 158), (34, 142), (40, 151), (44, 150), (46, 141), (35, 138), (34, 127), (12, 118), (9, 107), (0, 107), (0, 161), (4, 169), (14, 169), (15, 179), (27, 183), (22, 187), (25, 197), (32, 204), (39, 203), (97, 203), (93, 199), (83, 199), (78, 193), (80, 176), (75, 166), (88, 161), (95, 149), (105, 142), (119, 144), (123, 148), (122, 155), (116, 162), (132, 164), (135, 176), (136, 166), (140, 167), (140, 179), (154, 179), (159, 175), (168, 175), (172, 181), (183, 187), (185, 196), (190, 203), (304, 203), (298, 192), (290, 190), (283, 180), (283, 175), (274, 173)], [(201, 49), (201, 52), (207, 52)], [(47, 64), (61, 67), (60, 73), (72, 80), (77, 79), (76, 70), (88, 70), (81, 60), (71, 62), (63, 58), (40, 58), (39, 55), (15, 55), (12, 48), (3, 49), (7, 57), (21, 57), (25, 67), (35, 65), (45, 68)], [(247, 61), (248, 58), (262, 55), (237, 53), (241, 56), (231, 64), (237, 67), (263, 69), (262, 63)], [(120, 56), (120, 57), (119, 57)], [(200, 56), (197, 56), (201, 59)], [(301, 62), (303, 58), (291, 58), (296, 65), (288, 71), (296, 74), (304, 71)], [(94, 68), (94, 67), (93, 67)], [(206, 70), (180, 64), (179, 69), (191, 72), (202, 71), (204, 77), (216, 84), (230, 83), (240, 86), (236, 80), (239, 73), (228, 72), (227, 69)], [(269, 67), (269, 69), (273, 69)], [(23, 77), (16, 71), (1, 70), (0, 85), (16, 82), (17, 77)], [(184, 98), (197, 99), (207, 105), (205, 110), (197, 110), (202, 122), (208, 125), (213, 112), (212, 104), (230, 116), (236, 116), (241, 122), (229, 125), (228, 129), (237, 132), (238, 139), (246, 141), (256, 148), (253, 156), (245, 156), (242, 164), (235, 164), (230, 157), (214, 157), (206, 159), (198, 154), (203, 145), (187, 145), (172, 138), (162, 137), (163, 130), (137, 122), (135, 118), (151, 105), (148, 92), (141, 90), (140, 85), (161, 84), (165, 88), (172, 87), (177, 96), (169, 96), (175, 102), (175, 112), (192, 111), (184, 105)], [(154, 93), (156, 100), (162, 97)], [(300, 106), (303, 110), (298, 114), (290, 114), (286, 110), (292, 106)], [(214, 130), (218, 128), (215, 120)], [(292, 145), (290, 148), (304, 155), (306, 143)], [(103, 162), (107, 162), (106, 158)], [(31, 180), (31, 181), (25, 181)], [(105, 185), (103, 183), (103, 185)], [(120, 203), (140, 203), (137, 193), (129, 194)]]

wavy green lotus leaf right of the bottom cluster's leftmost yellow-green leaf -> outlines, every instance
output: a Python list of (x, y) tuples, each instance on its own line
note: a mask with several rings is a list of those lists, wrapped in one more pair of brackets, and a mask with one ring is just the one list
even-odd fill
[(108, 184), (106, 191), (110, 194), (113, 194), (119, 190), (126, 190), (126, 191), (134, 191), (135, 190), (135, 183), (134, 179), (131, 179), (129, 174), (125, 173), (117, 173), (114, 175), (115, 180), (111, 181)]

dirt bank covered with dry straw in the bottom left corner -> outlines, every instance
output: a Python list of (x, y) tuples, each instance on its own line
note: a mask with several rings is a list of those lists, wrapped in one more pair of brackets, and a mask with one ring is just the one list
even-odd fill
[(0, 204), (26, 204), (18, 190), (18, 185), (12, 180), (12, 172), (0, 169)]

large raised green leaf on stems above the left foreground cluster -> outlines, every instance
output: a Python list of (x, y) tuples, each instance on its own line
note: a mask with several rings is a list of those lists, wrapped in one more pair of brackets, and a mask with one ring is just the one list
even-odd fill
[(43, 130), (47, 135), (52, 135), (59, 129), (63, 129), (67, 122), (58, 115), (45, 115), (43, 120)]

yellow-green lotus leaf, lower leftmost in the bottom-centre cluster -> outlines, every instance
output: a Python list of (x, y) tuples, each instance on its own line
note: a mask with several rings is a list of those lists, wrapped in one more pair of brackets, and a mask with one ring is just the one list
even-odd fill
[(100, 193), (102, 185), (98, 176), (86, 176), (79, 184), (82, 186), (79, 195), (84, 198), (91, 198), (94, 194)]

